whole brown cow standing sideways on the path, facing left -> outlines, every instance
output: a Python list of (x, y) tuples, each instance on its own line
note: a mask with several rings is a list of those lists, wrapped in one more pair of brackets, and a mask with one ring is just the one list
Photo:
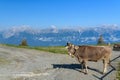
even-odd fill
[(107, 72), (112, 51), (110, 46), (75, 46), (67, 43), (66, 48), (70, 56), (75, 56), (82, 66), (85, 66), (85, 73), (88, 73), (87, 61), (97, 62), (98, 60), (103, 60), (103, 73)]

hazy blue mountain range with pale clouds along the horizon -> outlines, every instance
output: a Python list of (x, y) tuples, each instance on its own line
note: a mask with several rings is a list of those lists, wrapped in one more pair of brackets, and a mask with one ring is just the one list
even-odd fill
[(100, 35), (106, 43), (120, 42), (120, 27), (101, 25), (98, 27), (78, 27), (57, 29), (35, 29), (29, 26), (0, 30), (0, 43), (19, 45), (26, 39), (30, 46), (64, 46), (66, 42), (78, 45), (96, 44)]

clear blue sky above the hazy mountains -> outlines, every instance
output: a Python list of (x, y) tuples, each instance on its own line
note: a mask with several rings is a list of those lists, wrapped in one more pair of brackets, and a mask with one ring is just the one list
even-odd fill
[(120, 24), (120, 0), (0, 0), (0, 27)]

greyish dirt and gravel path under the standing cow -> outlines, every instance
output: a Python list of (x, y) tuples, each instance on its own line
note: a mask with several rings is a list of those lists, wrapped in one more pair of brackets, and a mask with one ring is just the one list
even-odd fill
[[(113, 51), (112, 59), (120, 55)], [(112, 65), (115, 67), (115, 61)], [(80, 64), (68, 55), (0, 45), (0, 80), (114, 80), (115, 70), (102, 75), (102, 61), (88, 62), (89, 74), (81, 72)]]

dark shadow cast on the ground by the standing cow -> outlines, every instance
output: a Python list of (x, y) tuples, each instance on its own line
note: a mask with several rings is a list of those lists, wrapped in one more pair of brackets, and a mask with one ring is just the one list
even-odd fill
[[(82, 70), (82, 65), (81, 64), (52, 64), (52, 65), (53, 65), (53, 68), (73, 69), (73, 70), (76, 70), (78, 72), (81, 72), (81, 73), (85, 74), (85, 72)], [(98, 69), (91, 68), (91, 67), (88, 67), (88, 69), (102, 74), (102, 72), (99, 71)]]

